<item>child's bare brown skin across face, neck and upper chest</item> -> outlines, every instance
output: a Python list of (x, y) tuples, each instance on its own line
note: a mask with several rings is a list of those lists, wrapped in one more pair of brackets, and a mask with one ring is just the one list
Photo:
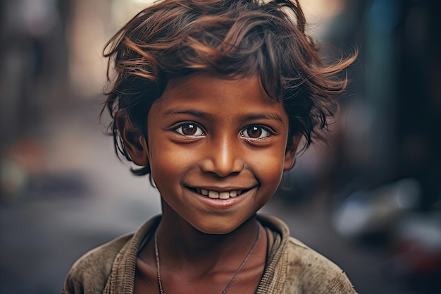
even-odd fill
[[(147, 140), (132, 142), (124, 120), (118, 121), (131, 158), (150, 165), (161, 194), (164, 293), (221, 293), (260, 230), (256, 249), (228, 290), (255, 293), (266, 260), (266, 234), (256, 212), (292, 168), (300, 138), (288, 138), (282, 104), (267, 96), (257, 76), (228, 80), (194, 73), (173, 80), (154, 102)], [(200, 189), (242, 194), (211, 200)], [(136, 293), (157, 292), (153, 240), (142, 248), (138, 267), (143, 274), (135, 280)]]

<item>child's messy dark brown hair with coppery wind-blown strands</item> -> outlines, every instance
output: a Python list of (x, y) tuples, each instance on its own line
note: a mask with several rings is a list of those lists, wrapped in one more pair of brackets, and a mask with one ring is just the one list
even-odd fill
[[(325, 65), (305, 26), (298, 0), (165, 0), (137, 13), (104, 48), (104, 109), (113, 118), (116, 153), (131, 160), (118, 112), (128, 118), (133, 137), (147, 137), (149, 109), (170, 80), (200, 71), (225, 78), (259, 75), (266, 94), (284, 105), (289, 135), (303, 135), (305, 148), (323, 140), (347, 87), (340, 73), (356, 54)], [(150, 169), (132, 171), (145, 175)]]

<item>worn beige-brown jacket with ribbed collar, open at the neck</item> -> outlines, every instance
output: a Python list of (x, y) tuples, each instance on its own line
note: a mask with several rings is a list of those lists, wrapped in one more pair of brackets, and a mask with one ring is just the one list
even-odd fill
[[(354, 294), (344, 272), (329, 259), (289, 235), (287, 225), (259, 214), (268, 235), (266, 269), (258, 294)], [(87, 252), (73, 264), (63, 294), (132, 294), (137, 253), (142, 241), (154, 233), (161, 216), (125, 235)]]

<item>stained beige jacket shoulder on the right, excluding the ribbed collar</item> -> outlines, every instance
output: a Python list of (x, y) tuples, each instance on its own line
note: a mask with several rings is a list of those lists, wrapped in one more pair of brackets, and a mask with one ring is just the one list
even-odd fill
[(302, 293), (356, 293), (344, 271), (299, 240), (287, 243), (287, 282)]

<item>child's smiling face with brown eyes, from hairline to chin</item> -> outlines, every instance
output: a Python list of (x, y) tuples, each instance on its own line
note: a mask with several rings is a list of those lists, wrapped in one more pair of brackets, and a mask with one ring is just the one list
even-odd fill
[(292, 166), (287, 114), (259, 77), (196, 73), (175, 82), (151, 107), (144, 144), (170, 210), (164, 217), (175, 214), (204, 233), (230, 233), (273, 196)]

